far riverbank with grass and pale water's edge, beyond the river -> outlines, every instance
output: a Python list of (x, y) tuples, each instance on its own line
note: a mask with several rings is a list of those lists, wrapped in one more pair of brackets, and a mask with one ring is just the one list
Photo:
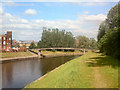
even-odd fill
[[(42, 51), (41, 53), (45, 56), (45, 58), (58, 57), (58, 56), (73, 56), (73, 55), (82, 55), (83, 54), (80, 51), (75, 51), (75, 52)], [(27, 52), (8, 52), (8, 53), (0, 53), (0, 54), (2, 57), (0, 60), (0, 63), (17, 61), (17, 60), (26, 60), (26, 59), (30, 59), (30, 58), (38, 58), (38, 55), (31, 53), (29, 51), (27, 51)], [(39, 57), (39, 58), (42, 58), (42, 57)]]

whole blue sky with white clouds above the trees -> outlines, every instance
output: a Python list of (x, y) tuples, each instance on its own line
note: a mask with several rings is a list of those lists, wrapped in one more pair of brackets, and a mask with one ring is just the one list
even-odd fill
[(13, 39), (39, 41), (42, 28), (71, 31), (74, 36), (97, 37), (98, 28), (117, 2), (2, 2), (0, 28)]

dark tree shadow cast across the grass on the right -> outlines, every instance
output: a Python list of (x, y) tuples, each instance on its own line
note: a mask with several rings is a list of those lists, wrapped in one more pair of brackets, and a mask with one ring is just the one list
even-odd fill
[(89, 67), (110, 66), (112, 68), (118, 67), (120, 61), (110, 56), (101, 55), (100, 57), (90, 58), (87, 61)]

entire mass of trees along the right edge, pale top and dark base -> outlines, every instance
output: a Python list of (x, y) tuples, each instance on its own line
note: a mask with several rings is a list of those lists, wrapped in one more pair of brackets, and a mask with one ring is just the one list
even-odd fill
[(120, 59), (120, 3), (110, 9), (100, 24), (97, 39), (100, 52)]

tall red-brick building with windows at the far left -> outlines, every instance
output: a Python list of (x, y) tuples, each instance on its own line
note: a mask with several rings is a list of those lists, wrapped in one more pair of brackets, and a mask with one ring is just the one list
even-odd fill
[(12, 31), (7, 34), (0, 35), (0, 50), (10, 51), (12, 48)]

